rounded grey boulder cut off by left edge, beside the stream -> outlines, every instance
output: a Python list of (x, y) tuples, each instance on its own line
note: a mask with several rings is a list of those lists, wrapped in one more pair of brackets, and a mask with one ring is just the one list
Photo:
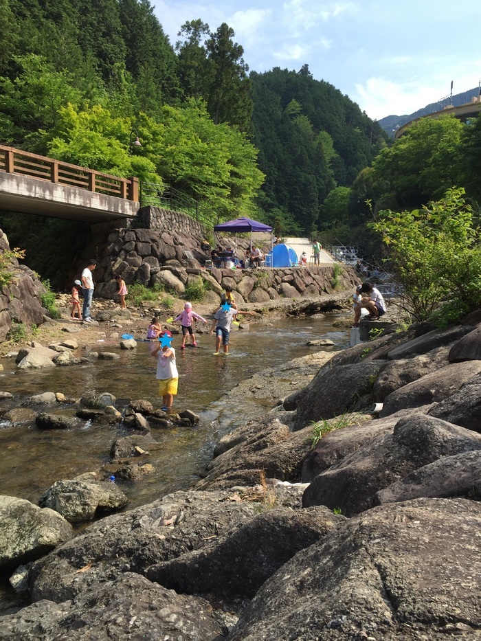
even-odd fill
[(0, 567), (40, 559), (74, 535), (71, 525), (54, 510), (12, 496), (0, 496)]

